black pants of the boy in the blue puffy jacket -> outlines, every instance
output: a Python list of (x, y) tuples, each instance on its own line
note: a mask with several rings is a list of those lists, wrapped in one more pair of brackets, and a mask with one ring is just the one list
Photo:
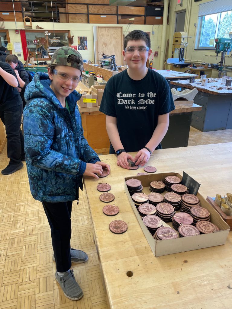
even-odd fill
[(71, 211), (72, 201), (63, 203), (42, 202), (51, 228), (52, 247), (56, 269), (60, 273), (69, 270), (71, 263)]

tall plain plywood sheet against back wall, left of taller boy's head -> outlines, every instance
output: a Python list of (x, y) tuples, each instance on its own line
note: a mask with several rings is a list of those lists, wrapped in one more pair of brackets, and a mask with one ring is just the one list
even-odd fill
[(103, 53), (115, 55), (117, 66), (122, 66), (122, 49), (122, 27), (97, 27), (97, 60)]

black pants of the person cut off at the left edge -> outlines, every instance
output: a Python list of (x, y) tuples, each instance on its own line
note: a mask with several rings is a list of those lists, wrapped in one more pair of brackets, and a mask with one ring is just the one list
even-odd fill
[(7, 157), (9, 164), (18, 164), (24, 154), (24, 136), (20, 129), (23, 104), (0, 111), (0, 118), (6, 127)]

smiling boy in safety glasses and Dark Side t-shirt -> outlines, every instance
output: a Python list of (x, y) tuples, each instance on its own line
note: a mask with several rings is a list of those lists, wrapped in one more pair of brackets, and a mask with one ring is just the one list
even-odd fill
[[(144, 166), (161, 148), (175, 106), (165, 78), (146, 67), (152, 52), (148, 34), (130, 32), (123, 48), (128, 69), (109, 79), (99, 110), (106, 115), (110, 154), (116, 152), (117, 164), (129, 169), (127, 159)], [(132, 151), (137, 152), (135, 158), (127, 153)]]

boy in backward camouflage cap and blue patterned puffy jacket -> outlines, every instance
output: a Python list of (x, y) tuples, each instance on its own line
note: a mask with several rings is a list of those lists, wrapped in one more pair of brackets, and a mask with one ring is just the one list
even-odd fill
[(75, 91), (83, 70), (81, 54), (71, 47), (57, 49), (48, 74), (38, 72), (24, 97), (24, 147), (32, 196), (42, 202), (51, 227), (55, 278), (65, 296), (83, 297), (71, 263), (82, 263), (88, 256), (71, 248), (72, 202), (83, 188), (82, 176), (98, 179), (103, 168), (96, 152), (84, 138)]

